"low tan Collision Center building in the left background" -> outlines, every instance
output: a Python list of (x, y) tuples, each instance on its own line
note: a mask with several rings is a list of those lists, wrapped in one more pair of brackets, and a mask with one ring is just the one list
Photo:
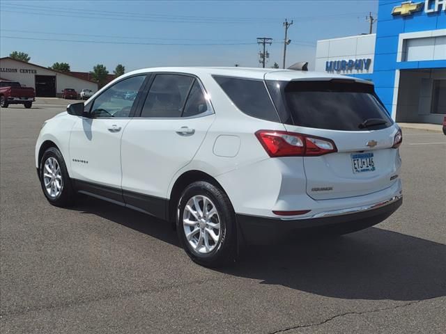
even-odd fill
[(0, 79), (33, 87), (38, 97), (60, 96), (65, 88), (73, 88), (77, 92), (84, 88), (98, 91), (98, 84), (94, 81), (10, 57), (0, 58)]

